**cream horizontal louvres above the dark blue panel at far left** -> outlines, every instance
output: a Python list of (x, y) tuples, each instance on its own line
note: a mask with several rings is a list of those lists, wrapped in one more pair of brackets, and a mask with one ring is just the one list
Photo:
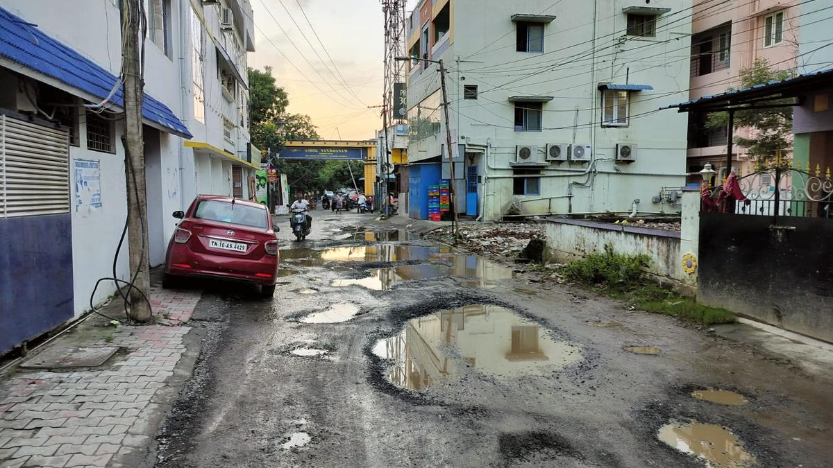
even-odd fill
[(69, 134), (0, 115), (0, 218), (69, 213)]

